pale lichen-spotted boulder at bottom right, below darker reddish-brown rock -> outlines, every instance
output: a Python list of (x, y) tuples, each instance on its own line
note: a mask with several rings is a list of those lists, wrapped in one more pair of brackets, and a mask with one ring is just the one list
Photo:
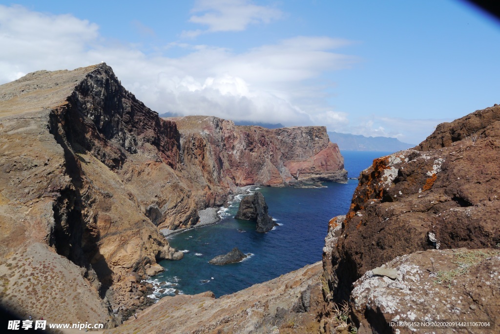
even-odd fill
[[(395, 280), (368, 270), (354, 282), (351, 292), (353, 311), (357, 318), (366, 318), (363, 327), (371, 327), (369, 332), (414, 332), (409, 326), (390, 326), (390, 321), (482, 319), (493, 324), (500, 314), (496, 296), (500, 290), (499, 249), (418, 251), (398, 256), (385, 266), (397, 272)], [(437, 326), (429, 329), (444, 330)], [(446, 330), (484, 331), (472, 325)]]

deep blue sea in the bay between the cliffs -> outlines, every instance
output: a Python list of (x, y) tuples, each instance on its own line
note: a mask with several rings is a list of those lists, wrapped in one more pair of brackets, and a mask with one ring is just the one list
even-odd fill
[[(358, 177), (374, 158), (391, 152), (341, 151), (348, 177)], [(257, 233), (255, 222), (234, 219), (237, 195), (219, 210), (221, 220), (168, 237), (170, 245), (184, 252), (179, 261), (163, 260), (165, 271), (151, 277), (155, 291), (150, 297), (195, 294), (207, 290), (216, 297), (236, 292), (321, 260), (328, 221), (345, 214), (357, 179), (347, 183), (323, 182), (322, 188), (250, 187), (260, 191), (277, 226)], [(237, 247), (249, 256), (238, 263), (213, 265), (208, 261)]]

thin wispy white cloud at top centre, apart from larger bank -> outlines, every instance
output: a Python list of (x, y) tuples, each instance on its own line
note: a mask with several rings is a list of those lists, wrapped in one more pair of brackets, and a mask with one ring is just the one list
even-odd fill
[(248, 0), (198, 0), (191, 12), (200, 14), (192, 15), (190, 22), (208, 27), (206, 30), (182, 31), (181, 37), (192, 38), (216, 31), (241, 31), (248, 24), (269, 23), (282, 16), (277, 8), (255, 5)]

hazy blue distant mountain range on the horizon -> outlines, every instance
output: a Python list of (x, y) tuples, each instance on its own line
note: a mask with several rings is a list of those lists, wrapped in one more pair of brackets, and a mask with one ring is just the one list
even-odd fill
[(399, 151), (415, 146), (390, 137), (365, 137), (361, 134), (339, 133), (328, 131), (331, 142), (335, 142), (340, 150), (352, 151)]

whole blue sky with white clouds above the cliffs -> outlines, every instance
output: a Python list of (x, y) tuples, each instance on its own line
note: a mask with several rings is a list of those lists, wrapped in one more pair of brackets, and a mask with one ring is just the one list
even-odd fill
[(417, 144), (500, 103), (500, 23), (459, 0), (0, 0), (0, 84), (105, 61), (158, 113)]

